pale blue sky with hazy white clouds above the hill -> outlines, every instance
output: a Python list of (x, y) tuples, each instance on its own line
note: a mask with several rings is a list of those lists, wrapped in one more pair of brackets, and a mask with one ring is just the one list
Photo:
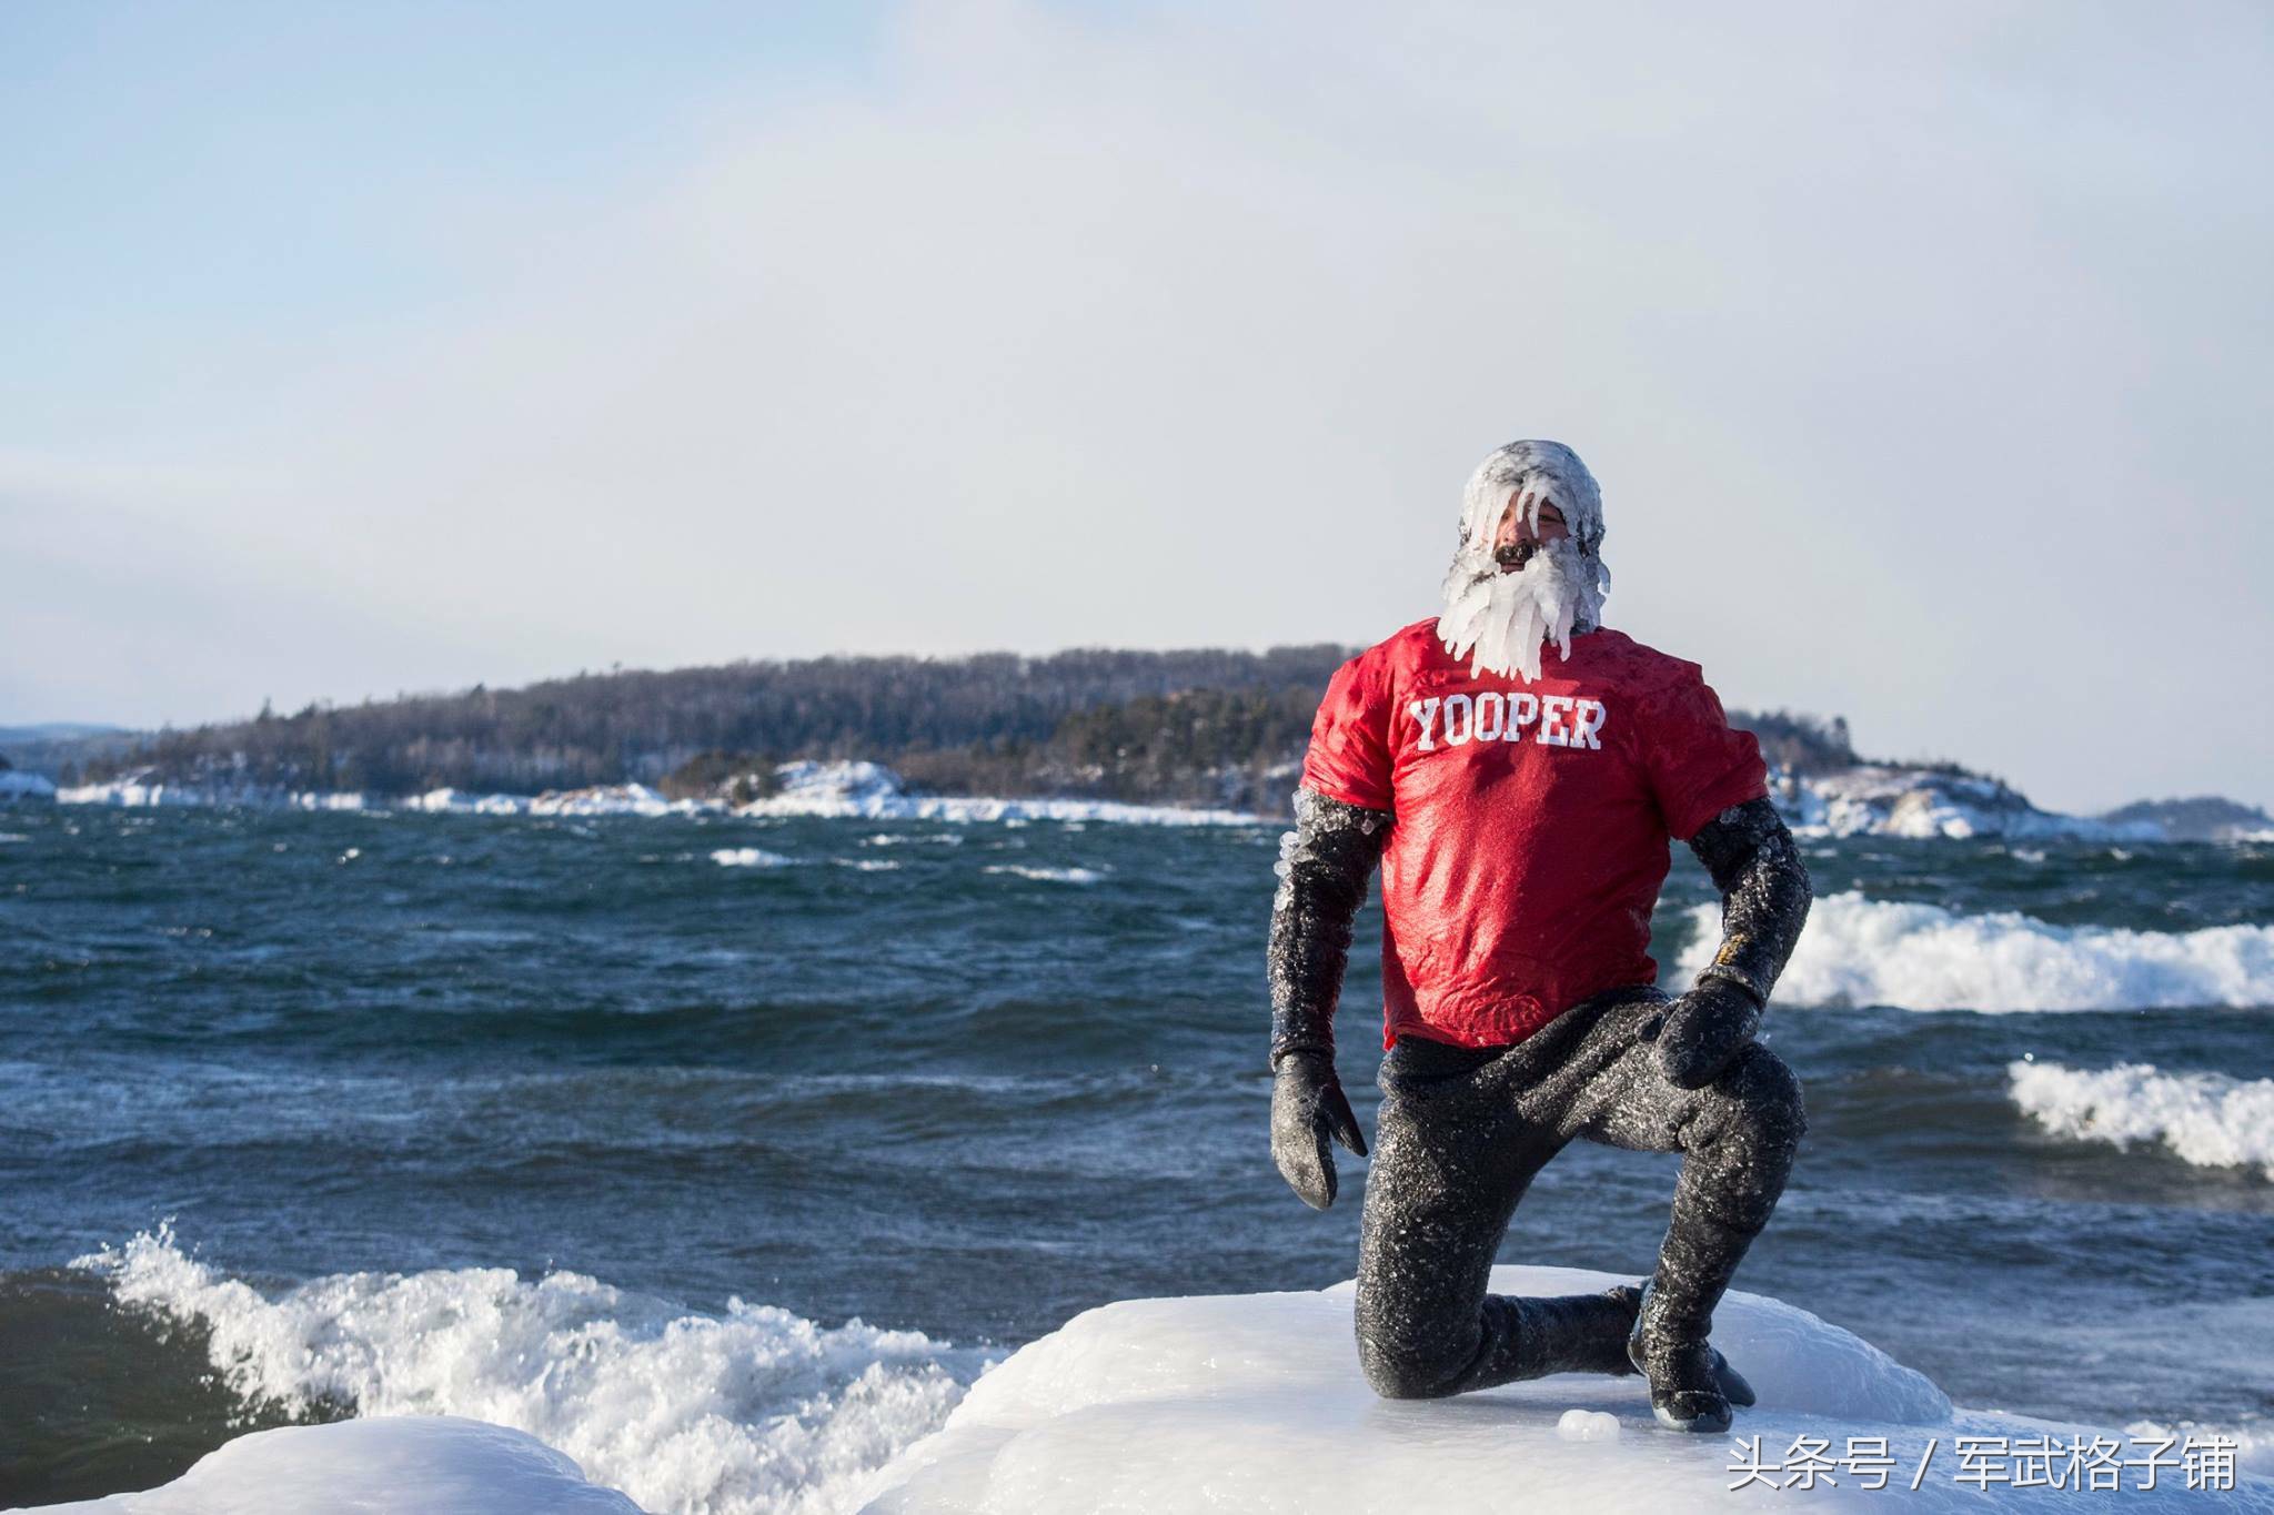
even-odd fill
[(0, 725), (1608, 620), (2274, 802), (2258, 5), (0, 7)]

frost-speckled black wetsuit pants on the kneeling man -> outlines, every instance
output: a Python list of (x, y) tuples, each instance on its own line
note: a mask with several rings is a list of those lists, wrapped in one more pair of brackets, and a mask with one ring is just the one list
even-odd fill
[(1633, 1290), (1517, 1299), (1485, 1288), (1517, 1202), (1571, 1138), (1683, 1154), (1651, 1311), (1706, 1338), (1785, 1192), (1806, 1113), (1792, 1070), (1760, 1043), (1706, 1088), (1667, 1081), (1649, 1040), (1662, 1006), (1655, 988), (1617, 990), (1512, 1047), (1408, 1036), (1383, 1058), (1358, 1256), (1358, 1356), (1378, 1392), (1633, 1372)]

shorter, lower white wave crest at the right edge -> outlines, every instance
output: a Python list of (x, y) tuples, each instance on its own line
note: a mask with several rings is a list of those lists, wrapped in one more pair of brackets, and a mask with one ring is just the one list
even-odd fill
[(2156, 1072), (2117, 1063), (2099, 1072), (2060, 1063), (2006, 1065), (2012, 1102), (2053, 1136), (2160, 1142), (2197, 1167), (2247, 1167), (2274, 1179), (2274, 1079)]

